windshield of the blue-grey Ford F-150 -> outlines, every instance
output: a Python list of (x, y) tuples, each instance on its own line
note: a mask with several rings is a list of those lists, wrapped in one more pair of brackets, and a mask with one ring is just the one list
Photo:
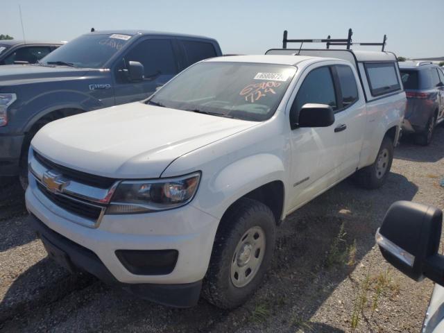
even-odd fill
[(82, 35), (60, 46), (42, 58), (46, 65), (66, 65), (74, 67), (101, 68), (130, 39), (130, 35), (91, 34)]

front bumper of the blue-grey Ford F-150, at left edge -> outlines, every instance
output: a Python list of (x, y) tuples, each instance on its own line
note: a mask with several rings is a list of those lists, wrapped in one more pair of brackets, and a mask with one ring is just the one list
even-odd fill
[(19, 174), (24, 135), (0, 135), (0, 176)]

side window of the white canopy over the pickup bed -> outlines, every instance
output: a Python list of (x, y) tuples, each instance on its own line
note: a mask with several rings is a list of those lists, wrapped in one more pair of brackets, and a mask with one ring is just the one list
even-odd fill
[(373, 96), (401, 89), (394, 62), (366, 62), (364, 66)]

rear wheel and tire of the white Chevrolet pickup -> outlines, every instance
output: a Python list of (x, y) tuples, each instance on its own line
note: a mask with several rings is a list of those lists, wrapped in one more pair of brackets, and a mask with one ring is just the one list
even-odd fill
[(355, 173), (355, 181), (360, 187), (377, 189), (381, 187), (393, 162), (393, 142), (390, 137), (382, 139), (375, 162)]

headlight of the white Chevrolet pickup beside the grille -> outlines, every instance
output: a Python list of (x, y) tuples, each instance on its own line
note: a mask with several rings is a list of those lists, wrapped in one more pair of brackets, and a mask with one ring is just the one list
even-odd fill
[(177, 178), (125, 180), (117, 186), (105, 214), (134, 214), (171, 210), (193, 200), (200, 172)]

